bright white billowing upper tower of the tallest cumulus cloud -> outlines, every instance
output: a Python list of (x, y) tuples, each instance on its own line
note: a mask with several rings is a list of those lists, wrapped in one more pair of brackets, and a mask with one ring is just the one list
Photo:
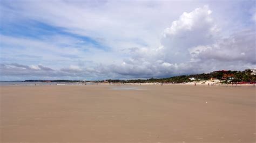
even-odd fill
[(218, 38), (219, 28), (211, 17), (212, 11), (205, 5), (192, 12), (184, 12), (163, 32), (161, 44), (165, 60), (185, 62), (189, 60), (188, 48), (212, 44)]

